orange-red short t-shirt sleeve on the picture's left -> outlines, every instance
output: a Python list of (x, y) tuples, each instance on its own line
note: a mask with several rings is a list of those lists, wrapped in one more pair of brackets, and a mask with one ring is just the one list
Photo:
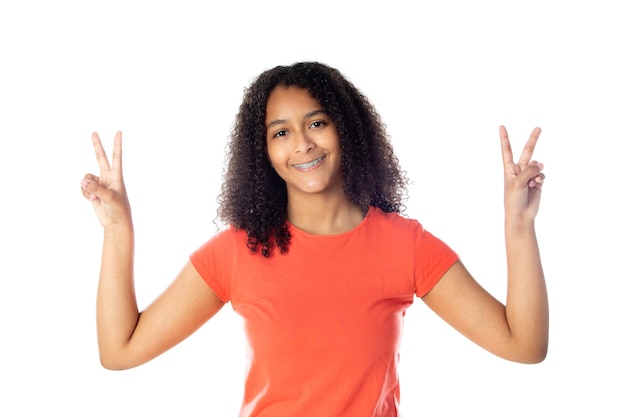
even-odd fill
[(230, 301), (236, 232), (232, 227), (215, 234), (189, 256), (202, 279), (223, 302)]

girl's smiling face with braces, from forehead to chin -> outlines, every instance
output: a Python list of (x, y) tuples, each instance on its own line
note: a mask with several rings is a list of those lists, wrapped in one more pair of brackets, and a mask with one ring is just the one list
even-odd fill
[(289, 198), (343, 191), (335, 124), (299, 87), (272, 90), (265, 113), (267, 156), (287, 184)]

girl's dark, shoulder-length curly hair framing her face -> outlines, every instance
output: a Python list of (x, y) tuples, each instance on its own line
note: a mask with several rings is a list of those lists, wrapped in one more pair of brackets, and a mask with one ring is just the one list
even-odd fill
[(287, 188), (266, 156), (265, 110), (277, 86), (308, 90), (335, 123), (348, 199), (367, 213), (369, 206), (401, 213), (407, 179), (368, 99), (338, 70), (318, 62), (277, 66), (244, 91), (226, 150), (218, 218), (243, 229), (248, 248), (269, 257), (276, 245), (288, 250)]

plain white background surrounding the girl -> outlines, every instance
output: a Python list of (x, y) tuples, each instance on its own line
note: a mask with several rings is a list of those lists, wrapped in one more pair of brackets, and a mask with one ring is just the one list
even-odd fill
[[(214, 231), (224, 145), (261, 71), (340, 69), (413, 179), (408, 214), (505, 293), (498, 125), (535, 126), (551, 303), (539, 365), (494, 357), (419, 300), (405, 416), (624, 416), (625, 13), (619, 1), (3, 1), (0, 415), (235, 416), (240, 322), (226, 306), (139, 368), (98, 362), (101, 229), (79, 182), (124, 132), (143, 307)], [(409, 5), (411, 4), (411, 5)]]

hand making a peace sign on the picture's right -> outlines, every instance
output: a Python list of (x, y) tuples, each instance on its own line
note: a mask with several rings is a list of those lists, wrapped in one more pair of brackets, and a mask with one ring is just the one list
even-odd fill
[(507, 218), (533, 220), (537, 216), (545, 176), (542, 173), (543, 164), (531, 158), (540, 133), (541, 129), (538, 127), (532, 131), (519, 161), (515, 163), (509, 134), (504, 126), (500, 126), (504, 165), (504, 210)]

